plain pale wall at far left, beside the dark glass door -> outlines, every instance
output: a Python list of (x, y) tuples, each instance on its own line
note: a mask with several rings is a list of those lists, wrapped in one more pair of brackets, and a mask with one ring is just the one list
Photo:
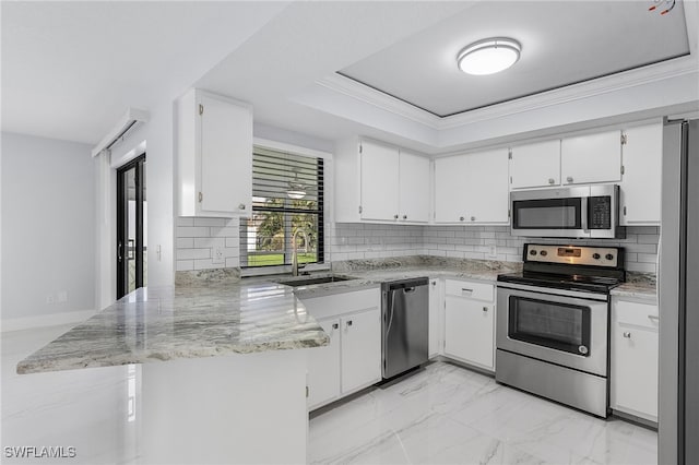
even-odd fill
[(2, 134), (3, 331), (95, 309), (91, 148)]

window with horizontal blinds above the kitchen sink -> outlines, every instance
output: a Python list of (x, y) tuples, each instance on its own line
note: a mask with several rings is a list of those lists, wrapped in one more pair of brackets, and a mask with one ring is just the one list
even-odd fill
[(240, 266), (323, 261), (323, 159), (252, 153), (252, 217), (240, 220)]

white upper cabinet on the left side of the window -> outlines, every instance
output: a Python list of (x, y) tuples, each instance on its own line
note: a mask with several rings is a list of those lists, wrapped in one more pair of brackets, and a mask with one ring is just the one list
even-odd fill
[(247, 215), (252, 203), (252, 108), (191, 90), (177, 102), (179, 216)]

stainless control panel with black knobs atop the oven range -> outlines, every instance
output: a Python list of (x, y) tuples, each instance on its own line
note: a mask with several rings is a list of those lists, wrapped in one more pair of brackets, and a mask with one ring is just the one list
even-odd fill
[(525, 243), (524, 261), (617, 267), (619, 265), (619, 249), (616, 247)]

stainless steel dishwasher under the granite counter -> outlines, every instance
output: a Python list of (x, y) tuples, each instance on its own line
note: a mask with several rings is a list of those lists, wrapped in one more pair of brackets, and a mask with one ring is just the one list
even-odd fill
[(383, 379), (427, 361), (429, 337), (429, 278), (381, 285), (381, 347)]

